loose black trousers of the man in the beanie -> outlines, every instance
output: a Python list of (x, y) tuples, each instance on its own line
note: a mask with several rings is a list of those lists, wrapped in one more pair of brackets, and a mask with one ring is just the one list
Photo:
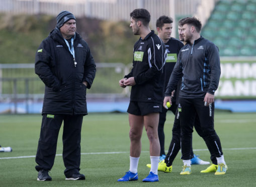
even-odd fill
[(40, 138), (36, 153), (37, 171), (51, 170), (56, 155), (59, 129), (63, 123), (64, 174), (70, 176), (80, 170), (80, 141), (82, 115), (43, 115)]

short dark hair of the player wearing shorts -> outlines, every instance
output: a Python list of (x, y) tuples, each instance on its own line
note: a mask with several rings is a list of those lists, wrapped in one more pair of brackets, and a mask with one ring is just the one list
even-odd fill
[(146, 9), (135, 9), (130, 13), (130, 17), (137, 21), (141, 21), (144, 26), (148, 26), (150, 22), (150, 14)]

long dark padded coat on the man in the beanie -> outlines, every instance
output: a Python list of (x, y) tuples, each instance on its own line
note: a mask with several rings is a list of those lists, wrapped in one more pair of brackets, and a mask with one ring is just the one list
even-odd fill
[[(78, 33), (73, 46), (76, 65), (57, 28), (38, 48), (35, 73), (45, 84), (42, 114), (88, 114), (86, 90), (92, 86), (96, 65), (88, 44)], [(88, 82), (87, 87), (83, 81)]]

